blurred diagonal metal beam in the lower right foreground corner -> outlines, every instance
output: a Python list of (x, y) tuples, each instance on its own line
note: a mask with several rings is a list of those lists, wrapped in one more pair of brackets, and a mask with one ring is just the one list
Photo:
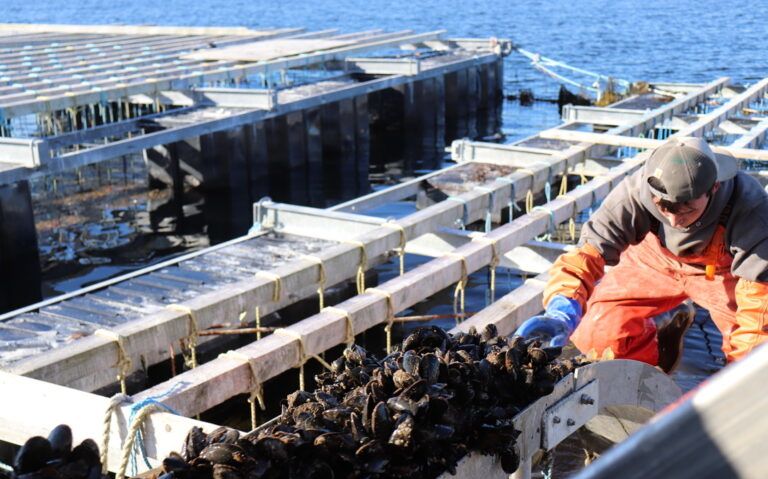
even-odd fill
[(766, 381), (768, 347), (762, 346), (574, 478), (766, 477)]

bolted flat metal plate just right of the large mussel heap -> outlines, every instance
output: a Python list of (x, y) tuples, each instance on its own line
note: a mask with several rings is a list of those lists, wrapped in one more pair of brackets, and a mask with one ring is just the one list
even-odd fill
[(549, 451), (598, 413), (598, 380), (565, 396), (541, 416), (541, 447)]

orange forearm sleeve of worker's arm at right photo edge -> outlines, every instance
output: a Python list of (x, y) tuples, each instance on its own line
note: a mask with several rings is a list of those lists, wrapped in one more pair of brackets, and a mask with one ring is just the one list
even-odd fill
[(768, 342), (768, 283), (739, 278), (736, 283), (736, 326), (731, 331), (728, 362), (743, 358)]

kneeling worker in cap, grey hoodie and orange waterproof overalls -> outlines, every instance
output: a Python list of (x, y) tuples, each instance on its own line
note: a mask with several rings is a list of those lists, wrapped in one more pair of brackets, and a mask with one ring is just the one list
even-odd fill
[(517, 334), (669, 372), (692, 316), (661, 355), (654, 318), (688, 298), (709, 311), (727, 362), (768, 340), (768, 193), (703, 139), (673, 138), (584, 224), (551, 268), (544, 313)]

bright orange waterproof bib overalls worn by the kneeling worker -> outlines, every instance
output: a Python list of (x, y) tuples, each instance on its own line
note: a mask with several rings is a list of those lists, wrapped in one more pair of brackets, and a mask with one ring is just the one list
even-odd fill
[(732, 256), (725, 248), (725, 228), (718, 226), (701, 253), (679, 257), (661, 246), (652, 233), (627, 248), (587, 301), (586, 313), (571, 340), (582, 352), (598, 356), (611, 348), (615, 357), (658, 363), (653, 317), (691, 298), (707, 309), (723, 335), (729, 357), (736, 329)]

